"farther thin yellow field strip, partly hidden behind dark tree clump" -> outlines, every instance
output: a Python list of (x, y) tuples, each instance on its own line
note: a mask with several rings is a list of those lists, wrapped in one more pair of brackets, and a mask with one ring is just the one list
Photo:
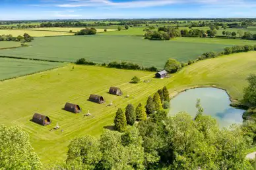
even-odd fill
[[(29, 29), (22, 29), (22, 30), (34, 30), (34, 31), (49, 31), (49, 32), (69, 32), (72, 30), (73, 33), (79, 32), (82, 28), (29, 28)], [(116, 31), (115, 29), (107, 29), (108, 32)], [(104, 32), (104, 28), (97, 28), (97, 32)]]

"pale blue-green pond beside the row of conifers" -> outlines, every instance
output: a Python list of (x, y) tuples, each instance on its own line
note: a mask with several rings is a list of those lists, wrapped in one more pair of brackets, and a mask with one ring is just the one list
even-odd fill
[(187, 112), (195, 117), (197, 114), (197, 108), (195, 108), (197, 98), (201, 99), (204, 114), (217, 119), (220, 127), (228, 127), (233, 123), (243, 122), (242, 115), (245, 111), (231, 107), (230, 97), (226, 91), (212, 87), (190, 89), (179, 93), (171, 100), (169, 115)]

